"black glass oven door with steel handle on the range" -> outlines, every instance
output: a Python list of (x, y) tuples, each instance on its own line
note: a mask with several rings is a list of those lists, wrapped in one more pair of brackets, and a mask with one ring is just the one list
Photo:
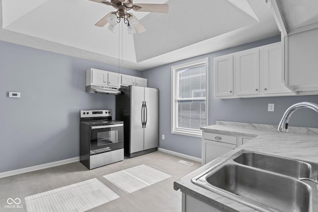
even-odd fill
[(90, 127), (90, 155), (124, 147), (124, 125)]

